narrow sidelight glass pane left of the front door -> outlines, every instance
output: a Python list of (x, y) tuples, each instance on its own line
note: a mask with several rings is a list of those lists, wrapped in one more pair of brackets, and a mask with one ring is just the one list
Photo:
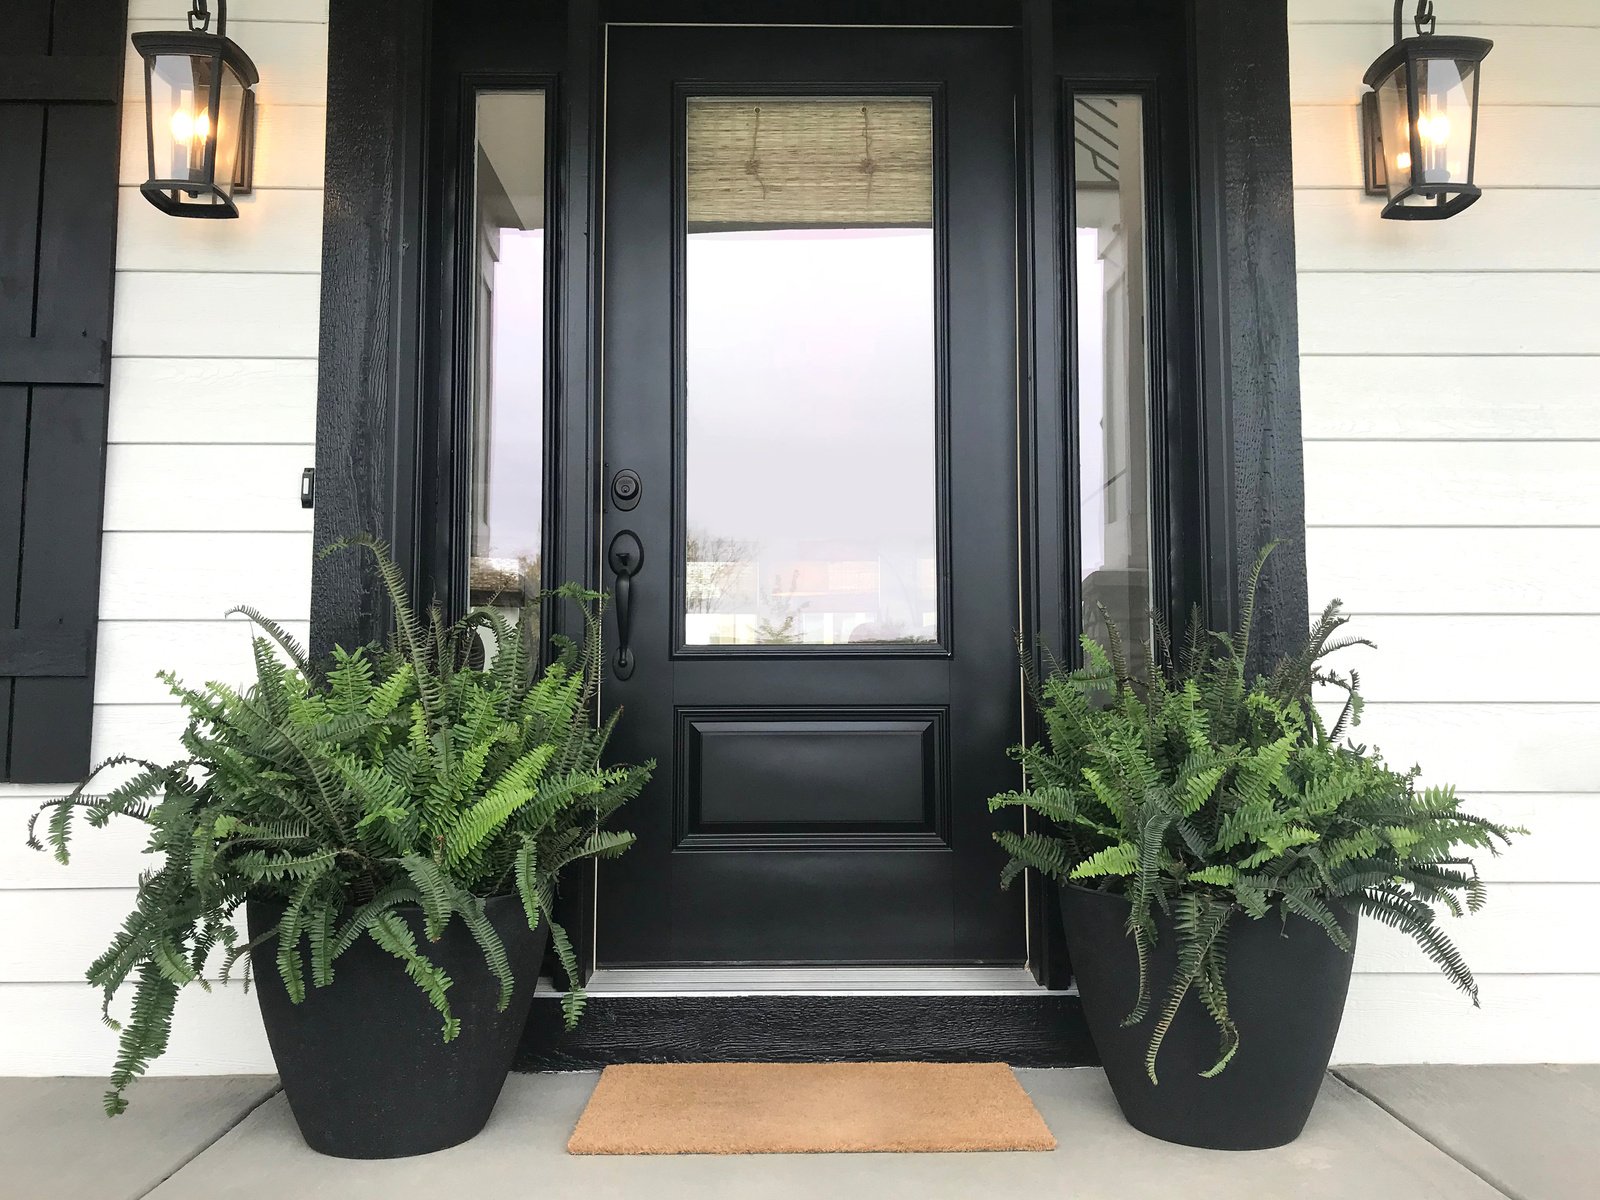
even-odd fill
[(482, 93), (470, 338), (469, 592), (538, 645), (544, 544), (544, 93)]

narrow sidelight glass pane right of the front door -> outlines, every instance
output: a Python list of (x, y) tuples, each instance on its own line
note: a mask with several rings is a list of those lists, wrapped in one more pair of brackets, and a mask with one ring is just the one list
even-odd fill
[(1083, 630), (1150, 619), (1150, 382), (1144, 122), (1138, 96), (1072, 104)]

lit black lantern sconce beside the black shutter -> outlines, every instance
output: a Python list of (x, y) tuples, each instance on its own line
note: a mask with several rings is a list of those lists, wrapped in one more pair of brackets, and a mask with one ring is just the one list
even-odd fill
[(144, 198), (170, 216), (235, 218), (235, 195), (251, 187), (256, 93), (250, 54), (227, 37), (227, 0), (216, 32), (206, 0), (194, 0), (189, 29), (134, 34), (144, 59), (144, 136), (150, 174)]

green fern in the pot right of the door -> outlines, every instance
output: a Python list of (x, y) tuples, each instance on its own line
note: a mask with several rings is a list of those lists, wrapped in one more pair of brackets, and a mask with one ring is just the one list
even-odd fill
[[(1227, 930), (1235, 917), (1304, 917), (1350, 950), (1336, 909), (1410, 934), (1445, 976), (1478, 1002), (1477, 982), (1440, 912), (1477, 912), (1485, 890), (1469, 850), (1499, 853), (1515, 834), (1462, 811), (1451, 787), (1419, 787), (1418, 770), (1347, 741), (1360, 723), (1360, 678), (1328, 656), (1370, 642), (1349, 637), (1331, 603), (1306, 648), (1267, 677), (1248, 670), (1256, 590), (1272, 554), (1248, 579), (1235, 634), (1206, 634), (1195, 616), (1182, 646), (1157, 622), (1130, 670), (1107, 618), (1104, 645), (1083, 638), (1083, 667), (1050, 666), (1032, 678), (1045, 744), (1018, 747), (1024, 790), (990, 800), (1043, 822), (998, 832), (1010, 854), (1002, 883), (1037, 870), (1130, 901), (1139, 990), (1125, 1026), (1150, 1021), (1146, 1070), (1157, 1080), (1162, 1040), (1197, 992), (1221, 1034), (1216, 1075), (1238, 1050), (1227, 1002)], [(1342, 696), (1330, 725), (1315, 686)], [(1157, 912), (1171, 914), (1178, 971), (1157, 1002), (1149, 955)]]

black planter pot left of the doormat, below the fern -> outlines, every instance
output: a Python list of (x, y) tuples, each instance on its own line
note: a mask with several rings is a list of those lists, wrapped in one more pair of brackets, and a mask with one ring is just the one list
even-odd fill
[[(282, 904), (250, 901), (250, 936), (270, 930)], [(294, 1005), (277, 968), (277, 941), (251, 954), (261, 1018), (283, 1091), (306, 1144), (338, 1158), (403, 1158), (458, 1146), (494, 1110), (528, 1021), (549, 928), (528, 928), (515, 896), (488, 901), (506, 942), (517, 990), (498, 1011), (499, 981), (458, 920), (429, 942), (419, 909), (397, 909), (422, 952), (451, 979), (461, 1034), (445, 1042), (443, 1019), (398, 958), (362, 938), (333, 968), (333, 984), (310, 986)]]

